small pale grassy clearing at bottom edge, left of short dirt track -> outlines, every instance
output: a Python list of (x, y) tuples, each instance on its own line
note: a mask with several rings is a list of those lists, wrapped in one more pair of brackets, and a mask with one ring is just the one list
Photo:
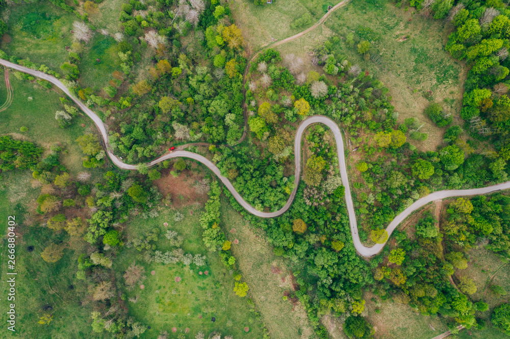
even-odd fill
[(413, 333), (412, 337), (416, 339), (429, 339), (448, 330), (444, 319), (437, 316), (425, 317), (409, 305), (381, 301), (370, 292), (365, 293), (363, 299), (367, 300), (364, 313), (374, 326), (377, 339), (410, 337), (409, 333)]

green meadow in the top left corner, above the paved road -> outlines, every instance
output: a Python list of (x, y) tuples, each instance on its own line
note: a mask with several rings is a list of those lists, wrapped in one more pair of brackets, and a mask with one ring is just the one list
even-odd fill
[(65, 46), (72, 43), (74, 14), (48, 3), (12, 4), (9, 16), (9, 31), (0, 48), (9, 55), (29, 58), (44, 64), (54, 71), (67, 56)]

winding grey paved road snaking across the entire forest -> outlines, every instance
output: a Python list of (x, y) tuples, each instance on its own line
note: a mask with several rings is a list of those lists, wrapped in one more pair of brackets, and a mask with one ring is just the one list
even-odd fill
[[(38, 78), (47, 80), (47, 81), (55, 84), (55, 86), (57, 86), (65, 94), (67, 94), (67, 96), (69, 96), (69, 98), (71, 98), (74, 101), (74, 103), (76, 103), (85, 112), (85, 114), (92, 119), (94, 124), (99, 129), (101, 137), (103, 138), (106, 152), (107, 152), (108, 156), (110, 157), (110, 159), (112, 160), (112, 162), (115, 165), (117, 165), (118, 167), (123, 168), (124, 170), (136, 170), (137, 165), (130, 165), (130, 164), (123, 163), (115, 156), (115, 154), (113, 154), (113, 152), (111, 151), (111, 148), (110, 148), (109, 140), (108, 140), (108, 133), (106, 131), (105, 124), (103, 123), (103, 121), (101, 121), (101, 119), (99, 119), (99, 117), (90, 108), (85, 106), (85, 104), (83, 104), (83, 102), (81, 102), (80, 100), (75, 98), (73, 95), (71, 95), (69, 90), (64, 86), (64, 84), (61, 81), (59, 81), (57, 78), (55, 78), (51, 75), (44, 74), (40, 71), (36, 71), (36, 70), (30, 69), (27, 67), (16, 65), (16, 64), (13, 64), (6, 60), (0, 59), (0, 64), (7, 66), (9, 68), (24, 72), (24, 73), (28, 73), (30, 75), (36, 76)], [(147, 163), (147, 165), (154, 166), (155, 164), (157, 164), (163, 160), (175, 158), (175, 157), (185, 157), (185, 158), (190, 158), (190, 159), (199, 161), (199, 162), (203, 163), (204, 165), (206, 165), (211, 171), (213, 171), (213, 173), (221, 180), (221, 182), (226, 186), (226, 188), (234, 195), (237, 202), (241, 206), (243, 206), (248, 212), (250, 212), (251, 214), (257, 215), (259, 217), (272, 218), (272, 217), (281, 215), (285, 211), (287, 211), (289, 209), (290, 205), (292, 204), (292, 202), (294, 201), (294, 196), (296, 195), (297, 187), (298, 187), (298, 183), (299, 183), (300, 175), (301, 175), (301, 137), (303, 135), (304, 130), (308, 126), (310, 126), (312, 124), (316, 124), (316, 123), (321, 123), (321, 124), (324, 124), (327, 127), (329, 127), (335, 137), (335, 142), (337, 144), (337, 155), (338, 155), (338, 162), (339, 162), (339, 168), (340, 168), (340, 177), (342, 178), (342, 183), (345, 186), (345, 202), (347, 204), (347, 212), (349, 215), (349, 223), (350, 223), (350, 229), (351, 229), (351, 234), (352, 234), (352, 241), (354, 242), (354, 247), (356, 248), (356, 250), (358, 250), (358, 252), (363, 257), (374, 256), (382, 249), (382, 247), (384, 247), (384, 245), (386, 243), (385, 244), (377, 244), (372, 247), (365, 247), (365, 246), (363, 246), (363, 244), (360, 241), (360, 236), (358, 233), (358, 224), (356, 223), (356, 214), (354, 212), (354, 206), (352, 203), (352, 197), (351, 197), (351, 193), (350, 193), (349, 180), (347, 177), (347, 170), (346, 170), (346, 166), (345, 166), (344, 143), (342, 140), (342, 134), (341, 134), (340, 129), (338, 128), (337, 124), (333, 120), (330, 120), (327, 117), (313, 116), (313, 117), (309, 117), (309, 118), (303, 120), (299, 124), (299, 127), (296, 131), (296, 136), (294, 137), (294, 155), (295, 155), (294, 190), (292, 191), (291, 195), (289, 196), (289, 200), (287, 201), (285, 206), (275, 212), (265, 213), (265, 212), (261, 212), (261, 211), (256, 210), (255, 208), (253, 208), (250, 204), (248, 204), (241, 197), (241, 195), (239, 195), (239, 193), (236, 191), (236, 189), (234, 188), (232, 183), (227, 178), (225, 178), (221, 175), (219, 168), (216, 167), (216, 165), (213, 162), (211, 162), (209, 159), (207, 159), (201, 155), (198, 155), (198, 154), (195, 154), (192, 152), (188, 152), (188, 151), (175, 151), (173, 153), (168, 153), (168, 154), (165, 154), (155, 160), (152, 160), (151, 162)], [(409, 216), (412, 212), (416, 211), (417, 209), (421, 208), (422, 206), (424, 206), (432, 201), (435, 201), (438, 199), (445, 199), (447, 197), (452, 197), (452, 196), (487, 194), (487, 193), (491, 193), (491, 192), (495, 192), (495, 191), (498, 191), (501, 189), (507, 189), (507, 188), (510, 188), (510, 181), (507, 181), (505, 183), (498, 184), (498, 185), (483, 187), (483, 188), (464, 189), (464, 190), (443, 190), (443, 191), (433, 192), (433, 193), (415, 201), (411, 206), (407, 207), (402, 213), (397, 215), (397, 217), (395, 219), (393, 219), (393, 221), (388, 225), (388, 227), (386, 228), (386, 231), (388, 231), (388, 234), (391, 235), (391, 233), (393, 232), (393, 230), (395, 230), (397, 225), (400, 222), (402, 222), (407, 216)]]

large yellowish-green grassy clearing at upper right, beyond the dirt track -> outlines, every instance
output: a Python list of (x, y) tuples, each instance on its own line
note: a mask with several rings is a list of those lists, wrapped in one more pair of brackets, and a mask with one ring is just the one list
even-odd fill
[[(435, 149), (442, 141), (443, 130), (423, 116), (423, 109), (433, 100), (458, 117), (462, 104), (464, 65), (443, 49), (450, 27), (415, 10), (397, 9), (384, 2), (375, 7), (360, 0), (335, 12), (325, 25), (341, 37), (334, 44), (337, 53), (374, 74), (390, 89), (399, 122), (415, 117), (425, 123), (420, 131), (428, 133), (428, 140), (413, 143)], [(365, 60), (355, 45), (345, 42), (349, 33), (354, 34), (356, 44), (371, 41), (371, 59)], [(429, 94), (431, 97), (426, 99)]]

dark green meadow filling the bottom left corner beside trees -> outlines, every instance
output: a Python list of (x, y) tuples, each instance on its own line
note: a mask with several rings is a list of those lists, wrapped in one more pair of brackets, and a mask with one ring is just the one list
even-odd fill
[[(38, 190), (30, 189), (30, 173), (17, 172), (2, 174), (0, 188), (0, 215), (7, 220), (14, 215), (19, 225), (16, 227), (16, 332), (23, 338), (70, 338), (92, 337), (100, 335), (91, 333), (88, 318), (92, 308), (82, 305), (82, 297), (87, 294), (87, 286), (83, 281), (76, 280), (77, 258), (73, 251), (64, 251), (64, 257), (55, 264), (48, 264), (41, 258), (41, 251), (52, 242), (63, 240), (65, 233), (56, 235), (44, 227), (22, 225), (23, 214), (27, 204), (36, 199)], [(27, 186), (28, 185), (28, 186)], [(16, 186), (16, 188), (13, 188)], [(27, 194), (13, 201), (10, 195), (13, 190), (25, 190)], [(7, 222), (3, 223), (2, 234), (6, 234)], [(3, 258), (7, 255), (7, 241), (2, 240)], [(29, 252), (28, 246), (34, 246)], [(7, 317), (7, 263), (2, 262), (2, 283), (0, 294), (4, 296), (0, 303), (0, 319), (6, 323)], [(12, 270), (9, 270), (12, 272)], [(43, 307), (47, 309), (44, 310)], [(49, 307), (49, 308), (48, 308)], [(43, 314), (53, 315), (49, 325), (37, 324)], [(7, 329), (5, 329), (7, 331)]]

